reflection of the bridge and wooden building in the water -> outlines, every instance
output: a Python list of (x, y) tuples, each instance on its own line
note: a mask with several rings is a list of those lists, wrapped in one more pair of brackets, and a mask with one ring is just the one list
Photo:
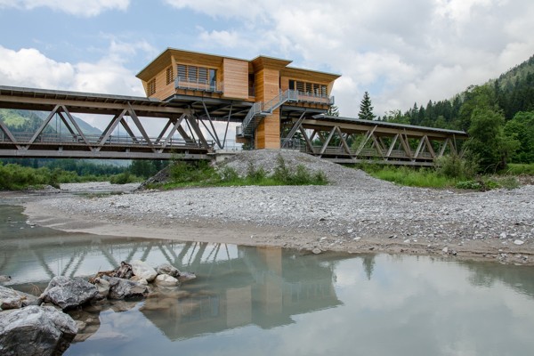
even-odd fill
[[(12, 225), (23, 227), (23, 223)], [(58, 275), (90, 276), (135, 259), (196, 272), (198, 279), (178, 290), (161, 290), (139, 307), (170, 340), (250, 324), (273, 328), (293, 323), (296, 314), (341, 304), (334, 288), (334, 266), (346, 255), (95, 237), (38, 227), (20, 231), (1, 240), (0, 255), (0, 271), (13, 278), (7, 287), (19, 290), (44, 288)]]

